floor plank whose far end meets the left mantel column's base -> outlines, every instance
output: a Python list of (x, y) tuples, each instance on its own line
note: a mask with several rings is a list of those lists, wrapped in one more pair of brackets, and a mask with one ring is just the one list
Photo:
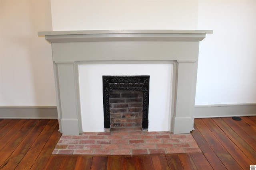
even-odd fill
[(58, 140), (61, 137), (61, 133), (58, 131), (59, 126), (56, 126), (54, 129), (52, 135), (50, 136), (49, 140), (47, 141), (46, 145), (40, 152), (38, 158), (32, 165), (32, 168), (30, 170), (41, 170), (42, 167), (45, 166), (46, 162), (50, 158), (52, 151), (54, 150), (56, 144), (58, 143)]

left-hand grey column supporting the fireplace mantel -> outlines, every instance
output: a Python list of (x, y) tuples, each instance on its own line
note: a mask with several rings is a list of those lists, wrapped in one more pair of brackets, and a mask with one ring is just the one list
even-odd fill
[(74, 63), (56, 63), (55, 78), (59, 85), (58, 112), (61, 121), (60, 131), (64, 135), (79, 135), (82, 130), (78, 120), (78, 109), (75, 92)]

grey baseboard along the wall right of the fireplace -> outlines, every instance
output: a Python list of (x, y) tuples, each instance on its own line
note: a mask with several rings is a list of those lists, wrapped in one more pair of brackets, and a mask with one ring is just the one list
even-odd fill
[(195, 118), (255, 116), (256, 104), (197, 105)]

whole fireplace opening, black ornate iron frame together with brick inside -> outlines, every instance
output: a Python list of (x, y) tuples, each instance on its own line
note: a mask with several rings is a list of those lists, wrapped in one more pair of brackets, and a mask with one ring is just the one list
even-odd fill
[(102, 76), (104, 128), (148, 129), (150, 76)]

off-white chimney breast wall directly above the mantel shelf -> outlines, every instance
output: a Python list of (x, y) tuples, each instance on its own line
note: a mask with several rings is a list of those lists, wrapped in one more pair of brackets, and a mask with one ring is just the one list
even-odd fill
[(198, 0), (51, 0), (53, 30), (196, 29)]

